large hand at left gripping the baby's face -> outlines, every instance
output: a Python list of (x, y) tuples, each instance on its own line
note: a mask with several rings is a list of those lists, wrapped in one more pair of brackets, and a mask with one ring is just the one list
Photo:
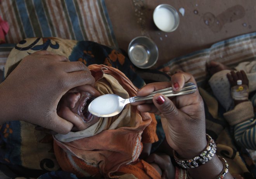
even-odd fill
[(82, 62), (35, 52), (24, 57), (0, 84), (0, 123), (23, 120), (65, 134), (76, 122), (57, 115), (59, 100), (71, 88), (94, 83)]

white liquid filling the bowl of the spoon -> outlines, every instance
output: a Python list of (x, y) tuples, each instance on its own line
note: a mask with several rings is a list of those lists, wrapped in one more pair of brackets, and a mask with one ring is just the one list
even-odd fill
[(102, 95), (95, 98), (88, 109), (93, 115), (109, 115), (118, 110), (119, 101), (116, 95)]

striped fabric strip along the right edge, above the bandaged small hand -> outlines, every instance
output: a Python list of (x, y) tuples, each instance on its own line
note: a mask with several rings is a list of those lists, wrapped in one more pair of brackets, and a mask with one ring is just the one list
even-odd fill
[(191, 73), (197, 83), (205, 82), (208, 73), (206, 63), (218, 61), (227, 66), (234, 67), (240, 62), (254, 61), (256, 59), (256, 33), (244, 34), (232, 39), (213, 44), (209, 49), (203, 49), (182, 57), (172, 59), (159, 69), (169, 67), (170, 74), (177, 69)]

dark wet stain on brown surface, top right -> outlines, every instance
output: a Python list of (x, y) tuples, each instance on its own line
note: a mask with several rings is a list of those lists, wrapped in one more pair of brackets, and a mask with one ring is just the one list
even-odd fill
[(215, 16), (211, 12), (206, 12), (203, 15), (204, 24), (206, 24), (213, 32), (219, 32), (223, 25), (232, 23), (235, 20), (241, 19), (245, 15), (244, 7), (235, 5), (227, 8), (221, 14)]

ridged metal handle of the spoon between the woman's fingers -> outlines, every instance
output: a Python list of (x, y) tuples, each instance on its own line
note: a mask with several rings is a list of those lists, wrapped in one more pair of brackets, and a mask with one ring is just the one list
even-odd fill
[(170, 88), (165, 88), (162, 90), (154, 91), (150, 93), (148, 96), (134, 96), (129, 98), (130, 103), (137, 102), (137, 101), (144, 101), (144, 100), (152, 100), (154, 95), (156, 94), (161, 94), (166, 97), (171, 97), (171, 96), (179, 96), (179, 95), (186, 95), (190, 93), (194, 93), (196, 91), (196, 85), (194, 83), (185, 83), (184, 87), (180, 91), (173, 91), (172, 87)]

